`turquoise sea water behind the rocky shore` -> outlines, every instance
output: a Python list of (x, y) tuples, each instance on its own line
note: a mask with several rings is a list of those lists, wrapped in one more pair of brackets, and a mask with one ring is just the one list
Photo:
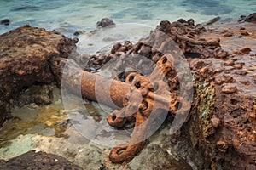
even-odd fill
[(113, 19), (116, 24), (139, 23), (155, 27), (160, 20), (193, 18), (201, 23), (221, 16), (227, 21), (255, 11), (254, 0), (1, 0), (0, 20), (9, 19), (11, 24), (0, 25), (0, 34), (31, 25), (73, 37), (74, 31), (96, 29), (96, 22), (104, 17)]

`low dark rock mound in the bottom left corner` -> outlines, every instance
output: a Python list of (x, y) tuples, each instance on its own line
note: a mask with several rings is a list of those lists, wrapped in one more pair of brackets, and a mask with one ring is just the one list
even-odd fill
[(26, 152), (20, 156), (9, 159), (9, 161), (0, 160), (0, 169), (70, 169), (81, 170), (83, 168), (74, 165), (67, 159), (56, 156), (54, 154), (48, 154), (42, 151), (35, 152), (33, 150)]

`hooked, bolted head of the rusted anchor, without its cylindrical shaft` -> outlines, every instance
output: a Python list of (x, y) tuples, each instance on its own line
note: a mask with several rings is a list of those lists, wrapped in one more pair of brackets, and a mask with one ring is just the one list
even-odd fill
[(173, 69), (173, 63), (163, 56), (148, 77), (135, 72), (126, 77), (125, 82), (130, 83), (131, 88), (125, 95), (124, 108), (109, 114), (107, 121), (112, 127), (124, 127), (125, 122), (135, 122), (135, 127), (129, 144), (122, 144), (111, 150), (109, 155), (111, 161), (115, 163), (130, 161), (136, 156), (145, 145), (153, 119), (161, 113), (160, 110), (169, 111), (169, 105), (173, 101), (163, 79), (166, 73)]

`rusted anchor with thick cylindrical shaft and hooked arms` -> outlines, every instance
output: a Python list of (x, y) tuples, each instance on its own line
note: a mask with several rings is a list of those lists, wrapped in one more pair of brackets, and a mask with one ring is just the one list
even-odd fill
[[(110, 126), (122, 128), (127, 123), (134, 123), (129, 144), (118, 145), (110, 152), (109, 159), (120, 163), (131, 161), (143, 150), (152, 122), (160, 116), (163, 110), (166, 112), (177, 110), (179, 99), (172, 98), (174, 94), (170, 92), (169, 86), (164, 81), (166, 74), (172, 70), (174, 70), (174, 58), (172, 54), (165, 54), (156, 63), (148, 77), (131, 72), (125, 82), (112, 80), (109, 87), (110, 80), (106, 77), (88, 71), (81, 73), (78, 69), (72, 69), (68, 71), (70, 75), (67, 76), (67, 82), (62, 83), (67, 83), (67, 87), (73, 92), (80, 86), (83, 97), (93, 101), (99, 102), (96, 92), (100, 92), (100, 102), (121, 107), (121, 110), (115, 110), (107, 116)], [(82, 76), (77, 77), (78, 74)]]

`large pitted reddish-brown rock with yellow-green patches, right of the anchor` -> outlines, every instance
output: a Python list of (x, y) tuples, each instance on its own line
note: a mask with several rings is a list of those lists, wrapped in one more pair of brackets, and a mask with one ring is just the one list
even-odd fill
[[(255, 169), (256, 167), (256, 122), (251, 115), (256, 108), (256, 83), (249, 81), (255, 74), (256, 53), (253, 35), (243, 37), (232, 44), (240, 34), (239, 27), (255, 33), (250, 23), (227, 24), (234, 37), (220, 37), (222, 47), (230, 56), (226, 59), (202, 59), (210, 74), (202, 74), (199, 61), (193, 59), (191, 68), (195, 71), (194, 105), (190, 121), (183, 132), (189, 132), (192, 145), (204, 153), (203, 168), (206, 169)], [(224, 26), (216, 26), (215, 31), (207, 31), (202, 37), (216, 37), (224, 31)], [(236, 47), (240, 47), (239, 53)], [(249, 83), (247, 82), (249, 81)], [(199, 132), (200, 131), (200, 132)], [(192, 135), (191, 135), (192, 134)], [(199, 151), (198, 150), (198, 151)], [(199, 168), (201, 169), (201, 168)]]

